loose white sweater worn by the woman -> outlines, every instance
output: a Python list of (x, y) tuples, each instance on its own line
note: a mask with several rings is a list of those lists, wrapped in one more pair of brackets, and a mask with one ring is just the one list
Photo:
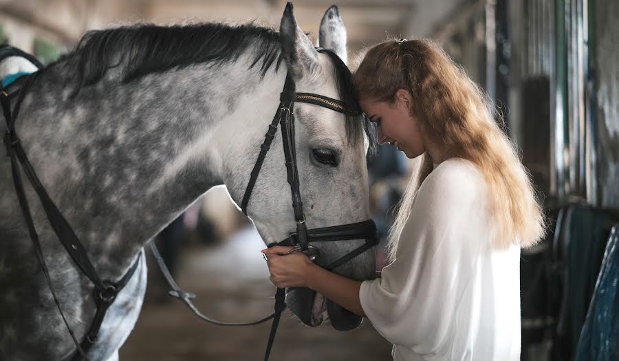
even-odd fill
[(484, 176), (450, 159), (428, 175), (397, 259), (359, 292), (393, 360), (520, 359), (520, 249), (490, 248)]

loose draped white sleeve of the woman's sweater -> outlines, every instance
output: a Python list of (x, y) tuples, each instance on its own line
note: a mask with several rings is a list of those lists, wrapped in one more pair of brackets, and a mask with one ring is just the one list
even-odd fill
[(475, 234), (484, 232), (481, 177), (473, 164), (439, 165), (417, 192), (397, 258), (362, 283), (363, 311), (390, 342), (424, 355), (448, 342), (479, 254)]

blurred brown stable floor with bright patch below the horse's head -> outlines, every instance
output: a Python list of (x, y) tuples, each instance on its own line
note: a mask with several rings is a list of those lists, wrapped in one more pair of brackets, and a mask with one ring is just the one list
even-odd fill
[[(181, 288), (197, 295), (195, 305), (213, 318), (229, 322), (257, 320), (272, 313), (275, 287), (253, 228), (237, 232), (219, 245), (192, 245), (184, 250), (177, 276)], [(159, 270), (149, 262), (149, 288), (135, 329), (120, 349), (120, 360), (262, 360), (270, 322), (248, 327), (220, 327), (196, 318), (170, 298), (162, 302)], [(165, 299), (165, 298), (164, 298)], [(368, 320), (359, 329), (339, 332), (328, 322), (305, 327), (290, 311), (280, 321), (272, 361), (391, 360), (391, 344)]]

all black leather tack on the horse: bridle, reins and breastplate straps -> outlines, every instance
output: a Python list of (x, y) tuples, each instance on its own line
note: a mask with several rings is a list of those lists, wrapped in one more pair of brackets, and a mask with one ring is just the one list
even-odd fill
[[(322, 50), (320, 48), (316, 49), (318, 52), (328, 52)], [(25, 54), (21, 51), (18, 54)], [(340, 61), (336, 56), (331, 56), (333, 61)], [(341, 61), (340, 61), (341, 62)], [(52, 296), (54, 296), (54, 300), (56, 302), (56, 307), (58, 307), (58, 311), (60, 311), (61, 316), (65, 322), (69, 333), (72, 336), (74, 343), (76, 344), (77, 351), (74, 354), (73, 360), (80, 360), (83, 358), (87, 360), (86, 353), (90, 349), (90, 347), (96, 342), (96, 336), (100, 329), (103, 318), (105, 317), (105, 313), (108, 307), (113, 303), (113, 300), (116, 299), (116, 295), (124, 285), (126, 285), (129, 278), (133, 275), (133, 272), (138, 266), (138, 261), (140, 260), (140, 256), (133, 262), (133, 265), (129, 268), (126, 274), (122, 276), (120, 281), (112, 282), (112, 281), (101, 281), (100, 277), (94, 270), (85, 248), (77, 239), (75, 233), (73, 232), (71, 226), (66, 221), (66, 219), (61, 214), (60, 210), (54, 205), (52, 199), (50, 199), (49, 195), (43, 188), (41, 182), (36, 177), (36, 173), (34, 169), (28, 162), (28, 157), (26, 157), (25, 152), (19, 142), (19, 138), (17, 137), (17, 133), (14, 129), (14, 122), (17, 119), (17, 115), (19, 113), (19, 107), (21, 102), (32, 86), (34, 82), (34, 78), (36, 77), (34, 73), (28, 76), (25, 79), (25, 83), (22, 85), (21, 89), (17, 94), (18, 98), (14, 107), (10, 108), (10, 97), (13, 94), (7, 94), (6, 91), (2, 91), (0, 94), (0, 103), (3, 108), (4, 116), (7, 122), (7, 131), (4, 136), (4, 142), (6, 145), (7, 153), (11, 159), (11, 169), (13, 175), (13, 182), (15, 186), (16, 193), (19, 198), (20, 206), (23, 211), (23, 215), (26, 219), (26, 223), (28, 224), (28, 228), (30, 230), (30, 238), (34, 243), (34, 248), (36, 251), (36, 255), (39, 259), (39, 263), (41, 264), (41, 269), (45, 274), (45, 278), (47, 279), (47, 284), (52, 291)], [(336, 100), (333, 98), (329, 98), (326, 96), (322, 96), (320, 94), (313, 93), (296, 93), (295, 92), (295, 84), (292, 80), (290, 74), (286, 75), (285, 84), (283, 87), (283, 91), (281, 92), (279, 107), (276, 111), (276, 114), (273, 118), (273, 121), (269, 125), (268, 132), (265, 134), (265, 140), (263, 144), (260, 146), (261, 150), (258, 155), (257, 161), (254, 164), (254, 168), (252, 169), (252, 173), (250, 175), (250, 180), (248, 182), (247, 188), (245, 190), (245, 194), (243, 195), (243, 201), (241, 202), (241, 209), (245, 214), (247, 214), (247, 206), (249, 203), (250, 196), (252, 194), (252, 190), (254, 188), (254, 184), (256, 179), (260, 173), (261, 166), (265, 160), (265, 157), (270, 149), (270, 145), (275, 137), (275, 133), (277, 131), (278, 126), (281, 126), (281, 135), (285, 156), (285, 165), (287, 171), (287, 182), (290, 184), (290, 190), (292, 193), (292, 208), (294, 212), (294, 219), (296, 223), (296, 232), (292, 232), (289, 237), (284, 239), (283, 241), (276, 243), (277, 245), (292, 245), (294, 248), (292, 252), (303, 252), (310, 256), (312, 261), (318, 261), (321, 257), (321, 250), (316, 245), (310, 245), (309, 243), (320, 243), (326, 241), (345, 241), (345, 240), (354, 240), (354, 239), (365, 239), (365, 243), (360, 245), (358, 248), (352, 250), (351, 252), (341, 256), (336, 261), (332, 261), (328, 265), (324, 267), (327, 270), (335, 270), (340, 265), (343, 265), (347, 261), (354, 259), (354, 257), (362, 254), (366, 250), (369, 250), (374, 245), (378, 244), (378, 236), (376, 234), (376, 224), (368, 219), (367, 221), (362, 221), (358, 223), (349, 223), (340, 226), (332, 226), (325, 228), (314, 228), (307, 229), (305, 224), (305, 215), (303, 212), (303, 201), (301, 201), (301, 193), (299, 190), (299, 179), (298, 179), (298, 167), (296, 164), (296, 149), (295, 149), (295, 138), (294, 138), (294, 103), (295, 102), (305, 102), (313, 105), (318, 105), (321, 107), (325, 107), (327, 109), (332, 109), (334, 111), (338, 111), (339, 113), (343, 113), (349, 116), (360, 116), (360, 113), (356, 111), (350, 110), (353, 107), (341, 102), (340, 100)], [(87, 332), (85, 339), (81, 344), (77, 341), (74, 332), (63, 314), (63, 311), (58, 303), (58, 299), (56, 298), (56, 292), (54, 292), (54, 287), (50, 281), (50, 275), (47, 271), (47, 266), (45, 265), (45, 260), (43, 259), (43, 253), (41, 252), (41, 245), (39, 243), (39, 238), (36, 234), (36, 230), (34, 229), (34, 222), (32, 221), (32, 217), (30, 215), (30, 208), (28, 207), (28, 201), (25, 197), (25, 192), (23, 190), (23, 184), (21, 182), (21, 175), (19, 173), (19, 164), (23, 167), (28, 179), (30, 180), (32, 186), (36, 190), (36, 193), (39, 195), (39, 199), (41, 199), (41, 203), (43, 204), (43, 208), (45, 210), (45, 214), (47, 215), (47, 219), (50, 221), (54, 232), (58, 236), (58, 239), (63, 244), (65, 250), (72, 257), (74, 262), (78, 265), (79, 269), (91, 280), (94, 284), (94, 294), (97, 305), (97, 310), (95, 314), (95, 318), (91, 324), (89, 331)], [(270, 319), (273, 320), (271, 331), (269, 335), (269, 340), (267, 344), (267, 349), (265, 351), (264, 360), (268, 360), (270, 355), (270, 350), (272, 348), (272, 344), (274, 341), (275, 333), (277, 326), (279, 325), (279, 319), (281, 317), (281, 313), (285, 309), (285, 290), (282, 288), (278, 288), (275, 294), (275, 305), (274, 312), (270, 316), (262, 318), (261, 320), (257, 320), (254, 322), (244, 322), (244, 323), (231, 323), (231, 322), (220, 322), (204, 316), (195, 305), (191, 302), (192, 298), (195, 298), (194, 294), (184, 292), (177, 283), (172, 278), (169, 270), (167, 269), (162, 257), (160, 256), (155, 244), (153, 242), (149, 243), (151, 247), (151, 251), (155, 256), (155, 260), (157, 261), (164, 277), (168, 281), (172, 290), (169, 292), (171, 296), (178, 298), (181, 300), (191, 311), (207, 322), (213, 323), (215, 325), (224, 325), (224, 326), (246, 326), (246, 325), (257, 325), (261, 322), (268, 321)]]

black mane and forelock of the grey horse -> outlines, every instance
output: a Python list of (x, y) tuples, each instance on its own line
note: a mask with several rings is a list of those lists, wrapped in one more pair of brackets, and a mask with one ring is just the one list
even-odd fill
[[(94, 85), (109, 69), (120, 67), (122, 83), (129, 83), (155, 72), (180, 69), (197, 63), (211, 66), (237, 61), (251, 52), (250, 69), (259, 66), (261, 76), (282, 63), (279, 32), (254, 22), (239, 25), (226, 23), (196, 23), (191, 25), (160, 26), (140, 23), (107, 30), (91, 30), (78, 42), (72, 52), (55, 63), (67, 62), (76, 79), (74, 94), (82, 87)], [(354, 96), (348, 67), (331, 50), (322, 50), (334, 65), (340, 100), (362, 113)], [(53, 65), (53, 64), (52, 64)], [(45, 70), (45, 69), (44, 69)], [(370, 139), (368, 154), (376, 146), (371, 122), (362, 116), (347, 116), (346, 131), (349, 140), (356, 140), (360, 131)]]

